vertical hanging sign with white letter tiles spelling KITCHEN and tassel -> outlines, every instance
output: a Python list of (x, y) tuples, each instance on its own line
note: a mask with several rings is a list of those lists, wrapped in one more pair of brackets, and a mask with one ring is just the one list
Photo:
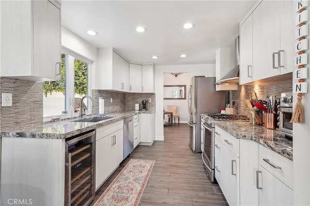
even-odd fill
[(308, 68), (305, 67), (308, 64), (308, 53), (305, 53), (309, 49), (308, 36), (309, 36), (309, 0), (297, 0), (295, 1), (295, 66), (293, 77), (294, 80), (298, 80), (293, 84), (293, 93), (297, 94), (297, 103), (294, 107), (291, 123), (304, 123), (304, 111), (301, 104), (302, 95), (308, 93)]

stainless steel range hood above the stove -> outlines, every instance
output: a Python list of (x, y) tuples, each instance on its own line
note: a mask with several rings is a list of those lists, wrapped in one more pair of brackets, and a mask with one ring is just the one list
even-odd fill
[(216, 84), (239, 84), (239, 36), (235, 39), (236, 63), (223, 78), (219, 79)]

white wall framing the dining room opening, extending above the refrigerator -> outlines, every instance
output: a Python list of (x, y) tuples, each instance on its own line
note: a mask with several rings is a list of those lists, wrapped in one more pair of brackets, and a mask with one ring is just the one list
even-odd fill
[(155, 140), (164, 140), (164, 73), (188, 72), (191, 76), (215, 77), (215, 64), (188, 64), (155, 66), (156, 119)]

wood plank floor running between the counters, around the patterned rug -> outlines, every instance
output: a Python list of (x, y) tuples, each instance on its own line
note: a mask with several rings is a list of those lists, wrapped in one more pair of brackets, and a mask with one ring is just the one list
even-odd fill
[(107, 189), (130, 158), (154, 159), (155, 165), (143, 191), (140, 206), (228, 206), (217, 184), (204, 171), (201, 153), (189, 147), (189, 126), (164, 127), (165, 141), (138, 146), (97, 192), (91, 205)]

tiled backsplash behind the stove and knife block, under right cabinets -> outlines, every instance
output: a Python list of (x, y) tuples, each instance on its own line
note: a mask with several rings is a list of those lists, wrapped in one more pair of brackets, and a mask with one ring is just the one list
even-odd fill
[[(230, 101), (235, 100), (236, 104), (234, 106), (234, 112), (236, 114), (249, 115), (249, 110), (246, 104), (246, 99), (249, 99), (249, 93), (254, 90), (257, 94), (258, 99), (266, 100), (267, 95), (272, 95), (277, 98), (283, 92), (293, 91), (292, 80), (272, 83), (268, 85), (238, 85), (238, 90), (230, 92)], [(254, 99), (254, 94), (252, 93), (252, 98)]]

